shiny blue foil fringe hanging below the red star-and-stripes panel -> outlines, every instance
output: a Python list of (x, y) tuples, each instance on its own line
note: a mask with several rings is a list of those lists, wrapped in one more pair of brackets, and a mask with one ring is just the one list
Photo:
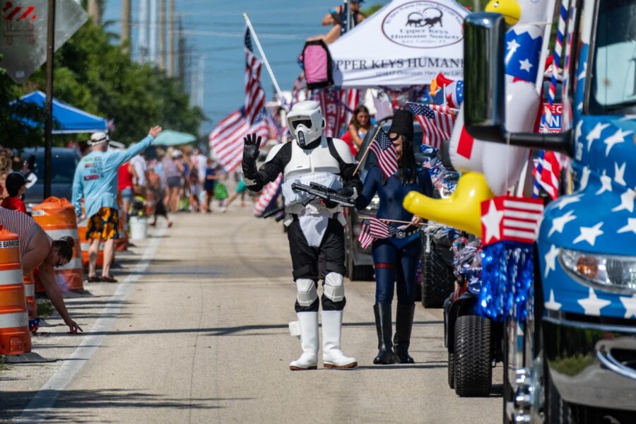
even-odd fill
[(480, 314), (494, 321), (524, 319), (534, 277), (532, 245), (504, 240), (485, 246), (481, 265)]

